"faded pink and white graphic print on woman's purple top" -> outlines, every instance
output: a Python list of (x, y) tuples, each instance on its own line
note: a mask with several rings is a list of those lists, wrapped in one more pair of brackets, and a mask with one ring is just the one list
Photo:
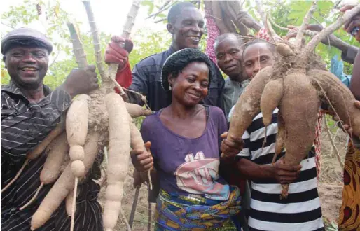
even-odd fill
[(223, 185), (219, 179), (219, 158), (205, 158), (202, 151), (185, 156), (185, 162), (176, 168), (176, 184), (182, 190), (193, 194), (205, 194), (213, 200), (227, 200), (228, 185)]

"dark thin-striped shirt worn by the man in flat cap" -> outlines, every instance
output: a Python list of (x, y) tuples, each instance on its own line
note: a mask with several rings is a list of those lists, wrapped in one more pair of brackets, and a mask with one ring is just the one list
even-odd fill
[[(14, 178), (26, 154), (41, 143), (69, 108), (71, 97), (64, 90), (51, 92), (44, 85), (44, 94), (46, 97), (39, 102), (30, 103), (13, 82), (1, 86), (1, 188)], [(100, 178), (101, 158), (99, 155), (87, 180), (78, 187), (74, 230), (102, 230), (102, 208), (97, 202), (100, 187), (91, 180)], [(32, 215), (53, 184), (43, 186), (27, 209), (18, 208), (27, 203), (40, 186), (39, 176), (45, 160), (46, 155), (29, 160), (18, 180), (1, 193), (1, 231), (30, 230)], [(38, 230), (69, 230), (69, 225), (70, 217), (63, 202)]]

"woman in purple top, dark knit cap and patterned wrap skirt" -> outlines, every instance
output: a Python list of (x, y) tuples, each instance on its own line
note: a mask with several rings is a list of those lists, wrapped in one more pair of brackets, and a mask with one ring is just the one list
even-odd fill
[(172, 103), (141, 125), (153, 158), (132, 151), (132, 162), (139, 172), (153, 167), (155, 230), (240, 230), (234, 219), (240, 211), (239, 189), (219, 176), (226, 118), (221, 109), (200, 104), (212, 90), (211, 71), (200, 50), (171, 55), (162, 67), (162, 87)]

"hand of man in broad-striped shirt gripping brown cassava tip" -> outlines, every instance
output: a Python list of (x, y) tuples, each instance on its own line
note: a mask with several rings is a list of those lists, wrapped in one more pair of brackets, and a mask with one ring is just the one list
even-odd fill
[(291, 183), (298, 178), (301, 172), (301, 165), (291, 166), (284, 163), (284, 157), (280, 158), (275, 162), (273, 166), (274, 178), (279, 183)]

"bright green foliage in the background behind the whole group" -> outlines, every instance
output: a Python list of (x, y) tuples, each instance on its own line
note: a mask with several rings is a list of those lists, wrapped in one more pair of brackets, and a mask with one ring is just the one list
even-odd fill
[[(334, 0), (335, 1), (335, 0)], [(314, 18), (317, 19), (326, 27), (338, 18), (338, 10), (333, 9), (334, 1), (318, 1), (318, 9), (314, 13)], [(47, 27), (46, 34), (53, 41), (54, 51), (50, 55), (49, 70), (45, 78), (45, 83), (51, 88), (55, 88), (64, 82), (66, 76), (70, 73), (71, 69), (76, 68), (76, 62), (72, 52), (72, 45), (70, 43), (69, 31), (67, 29), (66, 22), (69, 15), (62, 10), (60, 1), (39, 1), (39, 0), (24, 0), (21, 6), (11, 6), (11, 8), (1, 15), (1, 23), (8, 25), (2, 27), (1, 37), (4, 36), (11, 28), (18, 28), (20, 25), (29, 25), (32, 22), (39, 20), (39, 16), (36, 11), (36, 4), (39, 3), (43, 8), (43, 11), (47, 12)], [(154, 1), (141, 1), (141, 7), (148, 8), (148, 15), (158, 12), (158, 10), (164, 5), (165, 0)], [(263, 8), (266, 12), (272, 15), (272, 18), (278, 25), (286, 27), (287, 25), (300, 25), (305, 13), (310, 8), (312, 1), (263, 1)], [(171, 5), (172, 3), (169, 3)], [(168, 6), (169, 6), (168, 5)], [(200, 4), (200, 9), (203, 10), (204, 4)], [(256, 3), (254, 1), (245, 0), (244, 10), (256, 20), (260, 21)], [(159, 15), (152, 17), (148, 20), (155, 21), (160, 18), (166, 18), (168, 9), (164, 10)], [(163, 21), (166, 23), (166, 20)], [(317, 23), (315, 20), (311, 20), (310, 23)], [(275, 27), (275, 31), (280, 36), (286, 35), (286, 31), (282, 31)], [(95, 64), (95, 55), (92, 45), (92, 37), (88, 31), (82, 31), (81, 39), (83, 41), (84, 50), (88, 58), (89, 64)], [(351, 45), (359, 46), (359, 43), (349, 36), (343, 29), (335, 31), (335, 36), (338, 36)], [(110, 41), (110, 34), (100, 34), (100, 41), (102, 47), (102, 53), (107, 43)], [(205, 34), (200, 42), (200, 49), (205, 51), (206, 48), (207, 29), (205, 27)], [(171, 35), (165, 29), (160, 32), (151, 31), (151, 29), (141, 29), (136, 31), (132, 35), (132, 41), (134, 43), (134, 50), (130, 53), (130, 65), (133, 67), (141, 59), (153, 55), (158, 52), (162, 52), (169, 48), (171, 44)], [(323, 57), (328, 68), (330, 68), (330, 60), (334, 55), (340, 57), (340, 51), (336, 48), (328, 47), (327, 45), (319, 44), (317, 46), (317, 53)], [(352, 65), (345, 64), (345, 73), (352, 73)], [(1, 62), (1, 84), (6, 84), (9, 81), (9, 76), (4, 68), (4, 62)]]

